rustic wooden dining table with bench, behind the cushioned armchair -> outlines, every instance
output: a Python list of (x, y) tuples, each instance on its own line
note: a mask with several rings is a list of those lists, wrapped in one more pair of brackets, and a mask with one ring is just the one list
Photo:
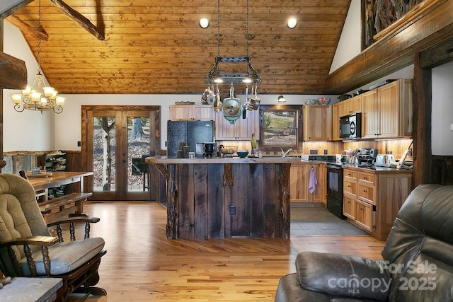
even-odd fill
[[(58, 219), (69, 214), (82, 214), (83, 202), (93, 193), (84, 192), (84, 177), (93, 175), (93, 172), (52, 172), (48, 177), (28, 178), (36, 192), (37, 199), (43, 197), (39, 202), (42, 216), (46, 222)], [(79, 183), (79, 186), (70, 194), (62, 197), (49, 199), (48, 190), (52, 187)]]

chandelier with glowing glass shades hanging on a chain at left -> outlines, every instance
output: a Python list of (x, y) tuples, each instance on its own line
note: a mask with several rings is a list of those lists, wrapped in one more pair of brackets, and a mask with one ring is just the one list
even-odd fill
[(11, 100), (14, 104), (14, 110), (23, 112), (23, 110), (53, 111), (55, 113), (63, 112), (64, 96), (57, 95), (55, 88), (47, 86), (44, 76), (41, 74), (41, 1), (39, 1), (38, 10), (38, 74), (35, 76), (32, 86), (27, 86), (22, 93), (12, 93)]

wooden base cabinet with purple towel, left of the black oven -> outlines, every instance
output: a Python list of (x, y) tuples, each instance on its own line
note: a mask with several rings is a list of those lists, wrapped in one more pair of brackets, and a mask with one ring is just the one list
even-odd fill
[[(324, 164), (325, 168), (325, 164)], [(311, 169), (316, 177), (316, 190), (309, 192)], [(291, 202), (319, 202), (326, 204), (326, 171), (322, 172), (321, 163), (292, 163), (289, 175), (289, 198)]]

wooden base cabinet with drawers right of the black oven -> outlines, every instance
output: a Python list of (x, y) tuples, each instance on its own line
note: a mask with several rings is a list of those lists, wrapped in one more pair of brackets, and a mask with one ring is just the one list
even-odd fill
[(343, 168), (343, 214), (385, 240), (411, 192), (411, 170)]

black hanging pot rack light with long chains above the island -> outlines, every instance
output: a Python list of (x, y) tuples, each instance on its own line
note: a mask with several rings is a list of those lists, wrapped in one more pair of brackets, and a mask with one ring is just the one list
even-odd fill
[[(253, 84), (256, 85), (261, 82), (260, 75), (253, 68), (251, 64), (251, 57), (248, 55), (248, 0), (247, 0), (247, 14), (246, 14), (246, 57), (220, 57), (220, 0), (217, 1), (217, 57), (215, 58), (214, 66), (205, 77), (208, 86), (214, 84), (225, 83), (231, 84)], [(222, 73), (219, 68), (219, 63), (226, 64), (246, 64), (246, 71), (243, 73)]]

